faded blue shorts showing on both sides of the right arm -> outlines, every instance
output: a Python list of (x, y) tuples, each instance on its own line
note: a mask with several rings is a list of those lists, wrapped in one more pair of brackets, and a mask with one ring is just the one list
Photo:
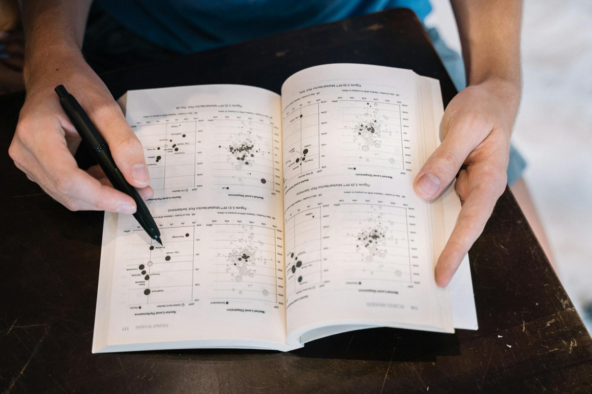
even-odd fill
[[(456, 51), (446, 46), (435, 28), (426, 28), (426, 30), (446, 71), (448, 71), (456, 90), (460, 92), (462, 89), (465, 89), (465, 66), (462, 57)], [(510, 144), (510, 161), (506, 170), (508, 174), (508, 184), (512, 185), (519, 180), (522, 177), (525, 168), (525, 159), (520, 155), (520, 152)]]

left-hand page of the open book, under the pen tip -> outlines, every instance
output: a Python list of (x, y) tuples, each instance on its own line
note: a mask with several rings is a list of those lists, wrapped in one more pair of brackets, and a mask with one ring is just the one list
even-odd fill
[(163, 246), (133, 216), (107, 213), (94, 351), (281, 349), (279, 96), (205, 85), (134, 90), (126, 101)]

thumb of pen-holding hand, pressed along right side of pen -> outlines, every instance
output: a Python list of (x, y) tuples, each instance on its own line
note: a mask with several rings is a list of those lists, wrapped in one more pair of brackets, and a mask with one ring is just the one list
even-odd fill
[(149, 185), (150, 174), (144, 159), (144, 149), (119, 106), (113, 102), (108, 109), (96, 114), (93, 121), (107, 140), (115, 164), (126, 180), (138, 188)]

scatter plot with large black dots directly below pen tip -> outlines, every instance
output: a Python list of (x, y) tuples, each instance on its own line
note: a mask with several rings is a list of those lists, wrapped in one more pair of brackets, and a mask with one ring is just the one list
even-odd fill
[(128, 304), (192, 300), (193, 233), (193, 226), (160, 228), (161, 246), (144, 230), (134, 230), (133, 257), (126, 266)]

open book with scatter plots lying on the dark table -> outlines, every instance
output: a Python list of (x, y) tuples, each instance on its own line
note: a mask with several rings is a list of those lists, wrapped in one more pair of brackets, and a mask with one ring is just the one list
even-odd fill
[(437, 80), (327, 64), (282, 95), (242, 85), (132, 90), (163, 246), (105, 213), (93, 352), (287, 351), (369, 327), (477, 329), (468, 259), (434, 268), (461, 204), (417, 197), (440, 142)]

